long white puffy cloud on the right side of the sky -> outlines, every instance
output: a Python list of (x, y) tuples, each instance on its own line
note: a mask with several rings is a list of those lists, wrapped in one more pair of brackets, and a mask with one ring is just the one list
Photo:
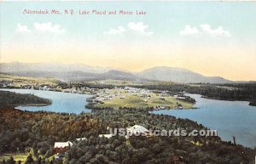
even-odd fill
[(211, 37), (231, 37), (230, 31), (225, 31), (222, 26), (218, 26), (216, 29), (212, 29), (211, 25), (203, 24), (200, 28), (191, 27), (191, 25), (186, 25), (183, 31), (179, 32), (182, 36), (192, 36), (192, 35), (207, 35)]

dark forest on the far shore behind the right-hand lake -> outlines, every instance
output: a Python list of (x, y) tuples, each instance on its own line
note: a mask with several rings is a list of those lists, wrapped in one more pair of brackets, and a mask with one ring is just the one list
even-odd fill
[[(133, 87), (136, 88), (138, 86), (135, 85)], [(139, 86), (139, 88), (168, 90), (173, 93), (196, 93), (209, 99), (249, 101), (250, 105), (256, 105), (256, 82), (228, 84), (144, 84), (143, 86)]]

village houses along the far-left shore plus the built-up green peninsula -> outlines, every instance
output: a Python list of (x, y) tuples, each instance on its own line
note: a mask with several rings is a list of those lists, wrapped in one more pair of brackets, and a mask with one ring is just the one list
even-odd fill
[[(13, 88), (15, 82), (2, 84), (2, 88)], [(148, 90), (143, 88), (115, 87), (115, 88), (89, 88), (71, 87), (62, 88), (61, 86), (50, 85), (20, 85), (22, 89), (35, 89), (42, 91), (54, 91), (63, 93), (89, 94), (91, 97), (86, 99), (90, 105), (96, 107), (153, 107), (154, 110), (163, 109), (189, 109), (193, 108), (195, 99), (185, 96), (183, 93), (172, 93), (169, 91)], [(90, 106), (89, 105), (89, 106)]]

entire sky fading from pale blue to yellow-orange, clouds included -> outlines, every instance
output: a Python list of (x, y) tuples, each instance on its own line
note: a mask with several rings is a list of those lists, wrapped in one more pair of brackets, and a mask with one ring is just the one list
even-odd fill
[[(0, 5), (3, 62), (81, 62), (130, 71), (166, 65), (185, 67), (207, 76), (256, 80), (253, 76), (256, 3), (253, 2), (3, 2)], [(124, 9), (143, 10), (147, 14), (22, 14), (24, 9), (53, 8), (62, 13), (64, 9), (76, 12)], [(47, 22), (52, 28), (49, 33), (38, 33), (35, 23), (40, 27)], [(55, 25), (59, 25), (56, 31), (64, 32), (55, 35)], [(64, 59), (59, 60), (60, 56)], [(147, 65), (142, 64), (145, 57)], [(131, 61), (134, 65), (129, 68)], [(218, 71), (214, 69), (216, 63), (230, 69)]]

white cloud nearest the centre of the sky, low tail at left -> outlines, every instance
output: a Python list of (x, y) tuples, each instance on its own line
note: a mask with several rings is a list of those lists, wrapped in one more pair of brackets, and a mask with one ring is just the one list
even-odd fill
[(151, 36), (154, 34), (153, 31), (147, 31), (147, 29), (148, 25), (144, 25), (143, 22), (130, 22), (127, 24), (127, 27), (118, 26), (115, 29), (110, 29), (109, 31), (105, 31), (103, 33), (107, 35), (120, 35), (130, 31), (141, 36)]

